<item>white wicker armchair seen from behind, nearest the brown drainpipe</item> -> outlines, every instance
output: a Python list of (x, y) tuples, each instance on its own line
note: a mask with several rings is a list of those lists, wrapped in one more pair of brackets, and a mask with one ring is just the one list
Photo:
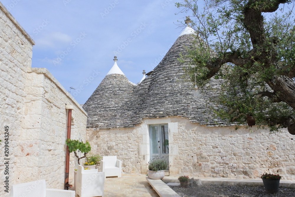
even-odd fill
[(104, 172), (84, 170), (78, 165), (76, 182), (76, 193), (80, 197), (104, 196)]

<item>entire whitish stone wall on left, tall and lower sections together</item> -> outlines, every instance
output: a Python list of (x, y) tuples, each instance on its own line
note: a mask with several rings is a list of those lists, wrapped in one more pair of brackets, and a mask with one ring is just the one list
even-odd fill
[[(0, 180), (3, 185), (8, 178), (9, 192), (13, 184), (39, 179), (46, 180), (47, 188), (63, 189), (65, 104), (74, 106), (71, 139), (86, 135), (86, 112), (46, 69), (31, 68), (33, 45), (0, 2)], [(5, 126), (9, 126), (8, 138)], [(76, 166), (73, 153), (70, 157), (72, 183)], [(1, 187), (0, 196), (9, 196), (4, 190)]]

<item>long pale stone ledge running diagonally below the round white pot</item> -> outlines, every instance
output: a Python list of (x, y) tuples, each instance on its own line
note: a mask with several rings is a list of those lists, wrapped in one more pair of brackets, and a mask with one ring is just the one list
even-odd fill
[(146, 180), (148, 181), (148, 183), (150, 183), (150, 185), (160, 197), (181, 197), (162, 180), (150, 179), (148, 177), (146, 177)]

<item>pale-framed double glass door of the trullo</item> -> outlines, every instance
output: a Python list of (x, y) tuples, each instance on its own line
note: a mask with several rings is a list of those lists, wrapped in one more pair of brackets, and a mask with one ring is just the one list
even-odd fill
[(150, 156), (169, 161), (168, 124), (150, 125)]

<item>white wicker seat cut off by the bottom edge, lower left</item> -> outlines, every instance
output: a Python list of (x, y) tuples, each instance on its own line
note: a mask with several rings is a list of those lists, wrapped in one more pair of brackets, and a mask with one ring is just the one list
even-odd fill
[(75, 197), (75, 191), (46, 189), (45, 179), (12, 185), (10, 197)]

